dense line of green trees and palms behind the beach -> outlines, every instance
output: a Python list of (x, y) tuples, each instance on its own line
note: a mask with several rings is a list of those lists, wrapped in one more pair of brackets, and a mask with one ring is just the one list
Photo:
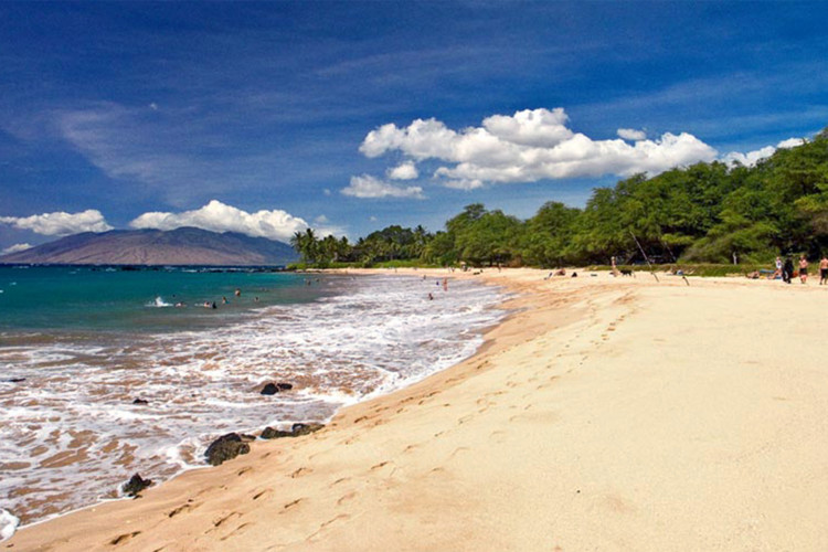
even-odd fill
[(528, 220), (480, 203), (427, 232), (399, 225), (360, 237), (297, 232), (305, 263), (371, 266), (389, 261), (475, 266), (561, 266), (644, 259), (766, 263), (828, 253), (828, 128), (753, 167), (720, 161), (636, 174), (593, 190), (584, 209), (550, 201)]

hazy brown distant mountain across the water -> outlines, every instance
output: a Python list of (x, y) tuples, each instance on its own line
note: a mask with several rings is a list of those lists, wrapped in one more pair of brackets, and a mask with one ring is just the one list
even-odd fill
[(293, 247), (266, 237), (183, 227), (84, 232), (0, 256), (0, 264), (67, 265), (286, 265)]

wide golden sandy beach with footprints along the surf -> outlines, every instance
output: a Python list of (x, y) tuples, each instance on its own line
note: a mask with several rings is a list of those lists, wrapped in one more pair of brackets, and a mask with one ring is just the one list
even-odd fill
[(399, 273), (503, 286), (514, 314), (320, 432), (0, 548), (828, 550), (828, 288)]

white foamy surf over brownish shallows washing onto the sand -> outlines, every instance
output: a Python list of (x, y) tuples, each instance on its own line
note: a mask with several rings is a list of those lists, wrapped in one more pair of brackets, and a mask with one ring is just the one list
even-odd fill
[[(321, 277), (311, 285), (332, 291), (315, 302), (265, 307), (219, 328), (26, 335), (0, 347), (8, 375), (25, 378), (0, 385), (10, 444), (0, 449), (3, 507), (29, 524), (117, 498), (136, 471), (158, 481), (203, 466), (204, 448), (224, 433), (327, 422), (344, 405), (457, 363), (502, 316), (495, 308), (502, 296), (436, 284)], [(266, 382), (294, 390), (265, 396)]]

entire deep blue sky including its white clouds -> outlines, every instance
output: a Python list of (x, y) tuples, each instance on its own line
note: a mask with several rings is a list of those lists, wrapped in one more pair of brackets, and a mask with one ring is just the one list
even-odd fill
[(824, 2), (2, 2), (0, 251), (527, 219), (828, 126)]

